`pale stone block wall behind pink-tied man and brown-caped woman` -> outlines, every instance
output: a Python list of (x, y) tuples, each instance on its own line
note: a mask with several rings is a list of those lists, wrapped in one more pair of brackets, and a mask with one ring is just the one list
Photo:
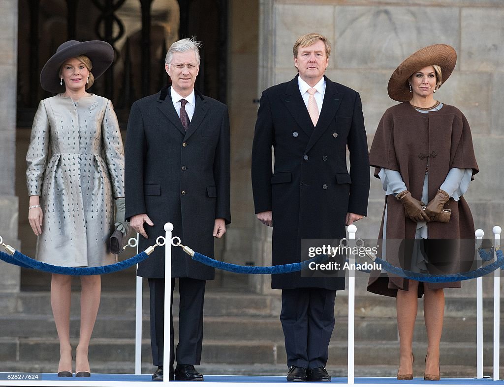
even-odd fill
[[(258, 94), (296, 74), (292, 45), (308, 32), (329, 38), (326, 74), (360, 92), (369, 146), (385, 110), (397, 104), (387, 83), (397, 65), (414, 51), (436, 43), (452, 45), (457, 66), (436, 99), (458, 107), (471, 125), (480, 173), (465, 196), (476, 228), (491, 235), (504, 225), (504, 3), (498, 0), (262, 0)], [(260, 94), (259, 94), (260, 95)], [(380, 181), (371, 176), (367, 218), (358, 235), (375, 238), (384, 206)], [(269, 243), (260, 231), (256, 245)]]

